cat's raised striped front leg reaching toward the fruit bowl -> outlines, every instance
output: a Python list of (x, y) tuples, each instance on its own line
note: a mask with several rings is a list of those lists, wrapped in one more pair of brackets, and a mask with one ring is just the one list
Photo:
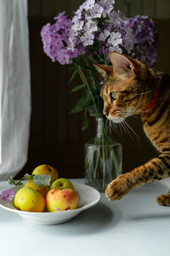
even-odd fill
[(113, 180), (105, 190), (105, 195), (111, 201), (120, 200), (129, 191), (144, 183), (156, 181), (170, 176), (170, 154), (161, 154), (150, 160), (144, 166), (135, 168)]

